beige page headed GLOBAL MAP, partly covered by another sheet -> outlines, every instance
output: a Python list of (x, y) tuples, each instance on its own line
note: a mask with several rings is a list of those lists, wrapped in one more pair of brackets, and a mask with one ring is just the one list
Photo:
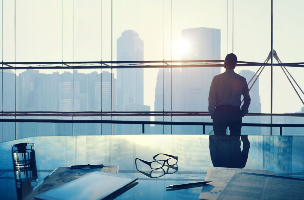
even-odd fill
[(250, 172), (257, 174), (275, 175), (274, 171), (269, 170), (209, 167), (205, 181), (212, 182), (203, 186), (201, 194), (199, 195), (199, 199), (217, 199), (235, 172)]

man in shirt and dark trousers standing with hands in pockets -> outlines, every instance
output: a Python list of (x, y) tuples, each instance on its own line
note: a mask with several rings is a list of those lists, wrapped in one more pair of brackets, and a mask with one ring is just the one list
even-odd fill
[[(240, 135), (242, 117), (248, 113), (250, 96), (248, 84), (243, 76), (234, 72), (237, 56), (230, 53), (226, 56), (224, 68), (226, 72), (213, 77), (209, 91), (209, 114), (213, 119), (215, 135), (226, 135), (229, 127), (230, 135)], [(241, 95), (244, 96), (242, 110)]]

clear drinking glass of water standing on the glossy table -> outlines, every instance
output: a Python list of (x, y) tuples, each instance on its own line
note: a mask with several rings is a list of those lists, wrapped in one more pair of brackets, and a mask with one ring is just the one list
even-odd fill
[(34, 143), (14, 144), (12, 145), (12, 151), (15, 168), (24, 168), (36, 164)]

